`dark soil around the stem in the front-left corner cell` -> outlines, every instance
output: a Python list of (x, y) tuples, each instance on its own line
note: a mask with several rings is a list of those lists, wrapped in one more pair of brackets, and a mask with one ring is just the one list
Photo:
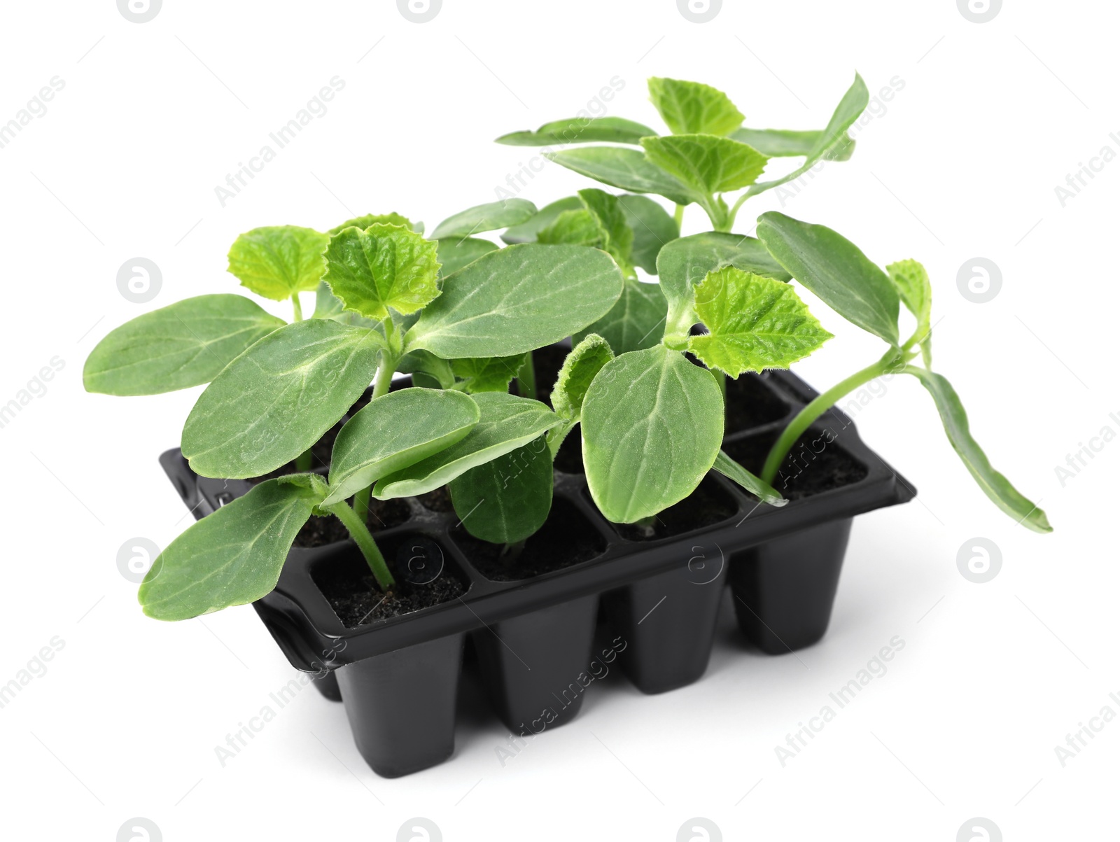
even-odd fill
[[(370, 565), (357, 550), (311, 570), (311, 579), (346, 628), (419, 611), (467, 592), (442, 549), (430, 539), (395, 535), (380, 546), (396, 579), (389, 596), (377, 588)], [(417, 559), (421, 559), (419, 564)]]

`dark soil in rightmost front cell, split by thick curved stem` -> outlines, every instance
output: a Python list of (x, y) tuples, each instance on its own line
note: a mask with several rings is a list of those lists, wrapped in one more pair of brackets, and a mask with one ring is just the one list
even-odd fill
[[(828, 433), (810, 430), (790, 449), (782, 462), (774, 488), (788, 499), (802, 499), (821, 492), (858, 483), (867, 476), (867, 466), (857, 461)], [(727, 455), (753, 474), (760, 474), (777, 433), (753, 436), (725, 445)]]

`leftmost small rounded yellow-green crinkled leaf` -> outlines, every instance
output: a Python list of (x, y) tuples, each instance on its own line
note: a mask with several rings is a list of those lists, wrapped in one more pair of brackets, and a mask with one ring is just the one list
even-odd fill
[(296, 225), (253, 228), (230, 246), (228, 271), (256, 294), (283, 301), (319, 286), (327, 238)]

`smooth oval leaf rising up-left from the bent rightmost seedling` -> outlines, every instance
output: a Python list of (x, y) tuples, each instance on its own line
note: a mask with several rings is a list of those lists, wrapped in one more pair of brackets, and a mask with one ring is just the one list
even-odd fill
[(898, 344), (898, 292), (853, 243), (832, 228), (776, 210), (758, 217), (758, 238), (824, 303), (852, 324)]

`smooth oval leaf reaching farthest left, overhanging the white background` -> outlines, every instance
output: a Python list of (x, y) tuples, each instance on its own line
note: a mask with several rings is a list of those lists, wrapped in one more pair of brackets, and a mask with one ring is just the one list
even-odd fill
[(283, 319), (243, 296), (198, 296), (138, 316), (111, 331), (82, 371), (87, 392), (141, 395), (208, 383)]

